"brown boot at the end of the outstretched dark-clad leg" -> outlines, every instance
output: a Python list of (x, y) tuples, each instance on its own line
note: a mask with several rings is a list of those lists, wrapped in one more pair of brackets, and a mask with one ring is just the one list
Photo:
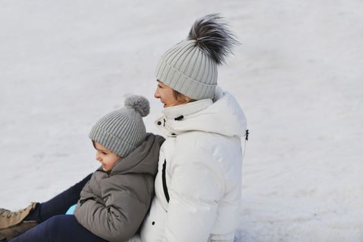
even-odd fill
[(36, 205), (37, 203), (31, 203), (24, 210), (17, 212), (0, 208), (0, 238), (4, 236), (10, 240), (35, 227), (37, 221), (24, 221), (24, 218), (35, 209)]

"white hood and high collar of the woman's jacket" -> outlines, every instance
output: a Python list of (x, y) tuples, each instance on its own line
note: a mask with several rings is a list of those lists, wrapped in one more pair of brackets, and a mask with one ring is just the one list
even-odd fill
[(188, 131), (218, 133), (223, 136), (245, 136), (246, 119), (241, 106), (230, 93), (216, 89), (214, 102), (210, 99), (171, 106), (156, 120), (169, 136)]

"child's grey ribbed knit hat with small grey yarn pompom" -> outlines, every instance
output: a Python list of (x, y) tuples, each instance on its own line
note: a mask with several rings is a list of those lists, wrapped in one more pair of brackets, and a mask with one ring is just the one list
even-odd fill
[(89, 138), (121, 157), (126, 157), (145, 140), (147, 134), (142, 117), (149, 114), (149, 101), (131, 95), (124, 107), (104, 115), (92, 127)]

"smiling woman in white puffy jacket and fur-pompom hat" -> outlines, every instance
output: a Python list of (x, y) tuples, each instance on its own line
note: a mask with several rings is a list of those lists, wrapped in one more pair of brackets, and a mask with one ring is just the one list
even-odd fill
[(218, 88), (217, 66), (236, 44), (221, 17), (207, 15), (162, 55), (155, 97), (165, 109), (156, 125), (167, 138), (149, 214), (131, 241), (234, 240), (246, 122), (235, 98)]

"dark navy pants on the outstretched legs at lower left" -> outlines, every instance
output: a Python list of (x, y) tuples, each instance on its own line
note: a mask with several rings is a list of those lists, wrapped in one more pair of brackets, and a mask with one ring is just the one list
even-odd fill
[(82, 188), (91, 178), (86, 176), (79, 183), (66, 189), (45, 203), (37, 204), (25, 220), (35, 220), (39, 225), (28, 230), (11, 242), (104, 242), (104, 239), (86, 230), (74, 215), (64, 215), (71, 205), (80, 199)]

